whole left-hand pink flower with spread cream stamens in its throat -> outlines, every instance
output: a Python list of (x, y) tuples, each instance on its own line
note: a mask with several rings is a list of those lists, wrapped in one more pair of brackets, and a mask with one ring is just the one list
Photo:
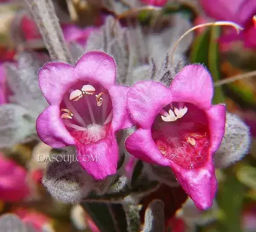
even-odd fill
[(129, 87), (116, 85), (116, 63), (103, 52), (88, 52), (76, 66), (53, 62), (39, 72), (49, 102), (37, 118), (41, 140), (58, 148), (75, 145), (80, 165), (95, 179), (116, 173), (115, 132), (133, 126), (126, 109)]

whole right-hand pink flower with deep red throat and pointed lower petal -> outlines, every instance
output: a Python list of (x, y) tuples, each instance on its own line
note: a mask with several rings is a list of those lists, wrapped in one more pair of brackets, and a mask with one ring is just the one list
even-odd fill
[(129, 153), (173, 169), (183, 189), (200, 209), (212, 205), (217, 180), (212, 155), (225, 128), (225, 107), (211, 105), (209, 73), (187, 65), (170, 88), (154, 81), (136, 83), (127, 105), (138, 130), (125, 142)]

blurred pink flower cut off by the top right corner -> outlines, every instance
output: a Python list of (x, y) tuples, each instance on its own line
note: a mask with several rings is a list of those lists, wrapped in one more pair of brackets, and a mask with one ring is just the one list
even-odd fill
[(233, 21), (244, 28), (239, 35), (233, 29), (225, 30), (222, 42), (243, 40), (245, 47), (256, 48), (256, 28), (253, 23), (253, 15), (256, 14), (255, 0), (200, 0), (200, 3), (210, 17)]

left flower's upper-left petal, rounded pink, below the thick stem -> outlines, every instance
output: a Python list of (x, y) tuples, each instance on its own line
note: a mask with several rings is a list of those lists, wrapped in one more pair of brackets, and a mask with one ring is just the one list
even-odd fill
[(49, 63), (38, 74), (39, 86), (49, 104), (59, 104), (67, 89), (78, 79), (74, 67), (66, 63)]

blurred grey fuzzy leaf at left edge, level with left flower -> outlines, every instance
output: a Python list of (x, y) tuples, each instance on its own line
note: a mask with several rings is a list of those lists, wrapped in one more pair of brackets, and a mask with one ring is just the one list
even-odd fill
[(0, 147), (11, 147), (21, 143), (35, 132), (35, 121), (30, 114), (18, 105), (0, 106)]

